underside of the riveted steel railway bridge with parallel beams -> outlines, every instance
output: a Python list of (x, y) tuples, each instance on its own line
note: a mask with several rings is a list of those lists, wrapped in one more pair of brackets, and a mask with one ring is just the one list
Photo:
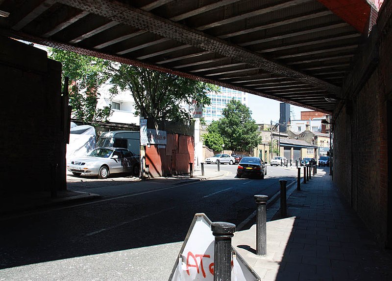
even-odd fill
[(325, 97), (340, 95), (371, 9), (366, 0), (1, 0), (0, 34), (331, 114)]

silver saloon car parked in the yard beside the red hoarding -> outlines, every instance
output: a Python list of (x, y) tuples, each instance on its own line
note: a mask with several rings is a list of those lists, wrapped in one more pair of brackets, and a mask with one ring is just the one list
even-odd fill
[(71, 160), (67, 169), (74, 175), (97, 175), (107, 178), (111, 173), (139, 175), (139, 155), (123, 148), (97, 148), (87, 156)]

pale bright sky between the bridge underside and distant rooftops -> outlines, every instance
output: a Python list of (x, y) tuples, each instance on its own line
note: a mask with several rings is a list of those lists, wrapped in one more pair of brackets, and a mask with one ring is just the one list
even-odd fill
[[(268, 98), (256, 96), (254, 94), (248, 94), (248, 108), (252, 111), (252, 118), (257, 124), (270, 124), (271, 120), (273, 123), (279, 122), (280, 115), (280, 103)], [(301, 108), (290, 105), (291, 110), (294, 109), (295, 120), (301, 119), (301, 111), (311, 111), (308, 108)], [(290, 115), (290, 118), (293, 117)]]

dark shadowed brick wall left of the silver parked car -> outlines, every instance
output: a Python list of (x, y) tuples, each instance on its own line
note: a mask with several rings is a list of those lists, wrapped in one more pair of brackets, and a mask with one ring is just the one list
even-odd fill
[(61, 64), (0, 36), (0, 193), (66, 189)]

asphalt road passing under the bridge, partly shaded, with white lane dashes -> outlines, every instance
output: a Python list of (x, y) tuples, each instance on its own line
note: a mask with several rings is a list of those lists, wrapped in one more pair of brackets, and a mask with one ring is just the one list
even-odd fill
[[(204, 165), (204, 168), (213, 172), (217, 165)], [(132, 278), (119, 280), (167, 280), (196, 213), (205, 213), (212, 221), (248, 228), (254, 223), (254, 218), (244, 223), (256, 209), (253, 195), (272, 197), (279, 191), (278, 179), (288, 179), (289, 184), (296, 178), (295, 167), (268, 166), (265, 179), (239, 179), (235, 177), (236, 169), (237, 165), (221, 165), (223, 176), (184, 184), (172, 184), (170, 180), (167, 184), (165, 179), (137, 181), (116, 176), (103, 181), (69, 175), (69, 190), (97, 193), (102, 197), (2, 219), (0, 280), (25, 280), (25, 271), (19, 269), (35, 271), (44, 262), (60, 260), (61, 267), (67, 262), (73, 264), (72, 268), (100, 268), (98, 257), (102, 255), (105, 257), (102, 259), (112, 257), (107, 262), (121, 276), (132, 272)], [(133, 258), (119, 260), (118, 254), (129, 255), (129, 251)], [(160, 262), (148, 258), (154, 256)], [(87, 264), (84, 261), (80, 264), (80, 260), (86, 259)], [(149, 265), (149, 273), (143, 271), (146, 263), (154, 264)], [(166, 273), (161, 276), (160, 272)], [(40, 271), (38, 275), (41, 274)], [(113, 280), (102, 277), (99, 270), (90, 274), (90, 280)], [(72, 280), (85, 280), (79, 277), (73, 276)], [(47, 277), (46, 280), (66, 279)]]

